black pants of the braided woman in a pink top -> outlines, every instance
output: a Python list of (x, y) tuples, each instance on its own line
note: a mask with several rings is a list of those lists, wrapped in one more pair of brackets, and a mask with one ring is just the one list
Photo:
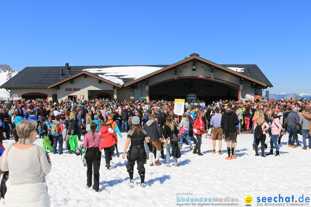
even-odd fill
[(87, 148), (86, 150), (86, 185), (92, 185), (92, 173), (94, 169), (94, 185), (93, 189), (99, 190), (99, 168), (100, 168), (100, 160), (101, 160), (101, 152), (98, 147)]

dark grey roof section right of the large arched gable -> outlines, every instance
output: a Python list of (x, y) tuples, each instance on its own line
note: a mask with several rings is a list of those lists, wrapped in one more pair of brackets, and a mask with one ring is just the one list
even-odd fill
[(273, 87), (272, 83), (267, 79), (267, 77), (262, 73), (262, 71), (258, 68), (256, 64), (247, 64), (247, 65), (221, 65), (226, 68), (244, 68), (243, 72), (239, 72), (240, 74), (246, 75), (252, 79), (259, 80), (262, 83), (266, 83), (267, 87)]

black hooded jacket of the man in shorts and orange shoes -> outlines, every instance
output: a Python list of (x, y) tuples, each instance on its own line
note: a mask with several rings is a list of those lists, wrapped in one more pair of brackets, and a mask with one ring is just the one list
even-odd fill
[(238, 116), (232, 110), (227, 110), (221, 116), (221, 128), (224, 133), (236, 132), (235, 126), (240, 123)]

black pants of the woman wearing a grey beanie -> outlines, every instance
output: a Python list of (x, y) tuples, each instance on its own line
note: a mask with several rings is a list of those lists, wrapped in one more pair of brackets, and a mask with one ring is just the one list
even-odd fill
[(145, 147), (143, 145), (132, 146), (132, 149), (130, 150), (130, 152), (131, 153), (129, 153), (127, 155), (128, 164), (126, 164), (126, 169), (127, 169), (128, 173), (130, 174), (134, 171), (134, 165), (136, 162), (139, 175), (145, 174), (146, 170), (145, 170), (144, 163), (145, 163), (146, 159), (145, 160), (141, 159), (141, 158), (146, 158)]

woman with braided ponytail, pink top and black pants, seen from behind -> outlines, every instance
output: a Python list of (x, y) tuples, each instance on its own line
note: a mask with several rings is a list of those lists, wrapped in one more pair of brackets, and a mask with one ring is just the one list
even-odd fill
[[(96, 131), (97, 124), (90, 124), (91, 132), (84, 136), (83, 148), (86, 149), (86, 185), (87, 187), (92, 186), (92, 168), (94, 174), (94, 185), (93, 189), (99, 191), (99, 168), (101, 160), (100, 142), (102, 140), (102, 135)], [(87, 148), (86, 148), (87, 147)]]

